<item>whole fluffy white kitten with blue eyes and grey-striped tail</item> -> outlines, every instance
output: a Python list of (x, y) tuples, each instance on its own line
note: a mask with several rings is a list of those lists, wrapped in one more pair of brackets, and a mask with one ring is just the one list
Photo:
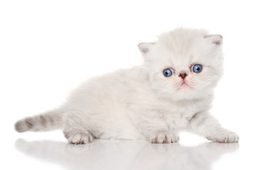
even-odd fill
[(215, 142), (238, 142), (209, 115), (222, 74), (220, 35), (178, 28), (140, 43), (144, 64), (88, 80), (66, 103), (19, 120), (18, 132), (63, 128), (72, 144), (93, 139), (178, 142), (188, 130)]

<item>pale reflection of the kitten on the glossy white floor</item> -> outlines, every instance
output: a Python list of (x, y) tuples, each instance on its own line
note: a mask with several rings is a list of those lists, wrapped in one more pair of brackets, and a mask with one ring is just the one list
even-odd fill
[(31, 157), (61, 164), (65, 169), (210, 169), (222, 154), (238, 149), (238, 143), (206, 142), (196, 147), (135, 141), (95, 140), (88, 145), (64, 142), (26, 142), (16, 148)]

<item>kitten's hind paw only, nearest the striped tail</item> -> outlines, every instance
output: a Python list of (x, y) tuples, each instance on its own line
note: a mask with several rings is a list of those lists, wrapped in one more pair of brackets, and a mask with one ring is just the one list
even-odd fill
[(90, 135), (89, 133), (76, 133), (74, 135), (70, 135), (70, 137), (68, 137), (68, 142), (70, 144), (87, 144), (92, 142), (92, 135)]

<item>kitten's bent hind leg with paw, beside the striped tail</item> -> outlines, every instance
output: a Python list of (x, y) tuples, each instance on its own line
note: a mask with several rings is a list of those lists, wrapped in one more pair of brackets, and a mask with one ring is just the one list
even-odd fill
[(67, 115), (64, 121), (63, 133), (71, 144), (87, 144), (92, 142), (92, 135), (80, 123), (79, 118), (75, 118), (72, 114)]

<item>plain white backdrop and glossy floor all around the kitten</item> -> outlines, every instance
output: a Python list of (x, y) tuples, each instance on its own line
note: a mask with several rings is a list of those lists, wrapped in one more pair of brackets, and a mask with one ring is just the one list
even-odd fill
[[(246, 0), (0, 1), (0, 169), (255, 169), (255, 16)], [(141, 64), (139, 42), (181, 26), (223, 35), (225, 75), (212, 113), (239, 144), (208, 147), (182, 133), (178, 145), (78, 148), (60, 131), (14, 131), (16, 120), (59, 106), (87, 78)]]

